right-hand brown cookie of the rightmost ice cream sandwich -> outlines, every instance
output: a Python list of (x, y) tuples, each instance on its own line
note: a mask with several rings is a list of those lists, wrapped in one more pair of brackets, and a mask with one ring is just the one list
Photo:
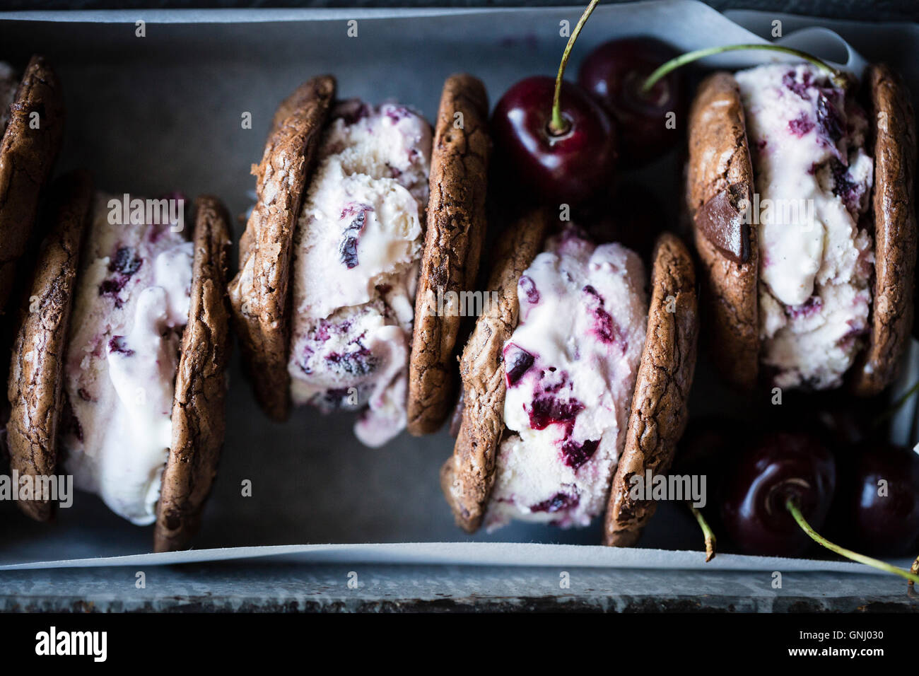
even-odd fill
[(916, 131), (902, 80), (884, 64), (868, 67), (874, 140), (875, 268), (868, 347), (851, 372), (855, 394), (876, 395), (896, 377), (913, 329)]

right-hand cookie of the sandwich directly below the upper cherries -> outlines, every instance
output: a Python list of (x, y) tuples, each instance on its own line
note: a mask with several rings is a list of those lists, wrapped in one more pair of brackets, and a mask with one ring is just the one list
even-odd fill
[(626, 444), (609, 494), (604, 544), (630, 546), (651, 519), (657, 503), (634, 500), (632, 476), (664, 474), (686, 428), (686, 399), (696, 369), (698, 304), (696, 273), (686, 246), (665, 233), (653, 254), (648, 332)]

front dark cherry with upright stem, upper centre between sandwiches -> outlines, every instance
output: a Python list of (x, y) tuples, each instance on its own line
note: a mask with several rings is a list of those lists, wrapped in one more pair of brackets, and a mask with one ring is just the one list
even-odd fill
[(494, 143), (505, 171), (528, 197), (578, 204), (607, 188), (616, 166), (616, 134), (607, 112), (584, 91), (562, 83), (567, 129), (550, 130), (555, 81), (528, 77), (512, 86), (494, 108)]

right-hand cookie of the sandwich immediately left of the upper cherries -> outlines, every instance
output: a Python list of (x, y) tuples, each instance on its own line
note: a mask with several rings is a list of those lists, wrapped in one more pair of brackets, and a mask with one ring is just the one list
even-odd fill
[(414, 435), (437, 431), (453, 399), (454, 349), (463, 316), (459, 308), (455, 314), (438, 315), (437, 299), (455, 293), (461, 301), (459, 294), (475, 284), (491, 146), (485, 87), (471, 75), (450, 76), (437, 111), (425, 250), (415, 298), (408, 391), (408, 430)]

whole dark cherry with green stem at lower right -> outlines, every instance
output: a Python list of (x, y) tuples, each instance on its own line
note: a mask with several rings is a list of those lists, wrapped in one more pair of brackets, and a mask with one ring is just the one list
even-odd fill
[(804, 518), (819, 531), (833, 501), (836, 465), (816, 436), (773, 432), (756, 442), (724, 485), (721, 521), (744, 553), (797, 556), (810, 538), (786, 509), (794, 498)]

